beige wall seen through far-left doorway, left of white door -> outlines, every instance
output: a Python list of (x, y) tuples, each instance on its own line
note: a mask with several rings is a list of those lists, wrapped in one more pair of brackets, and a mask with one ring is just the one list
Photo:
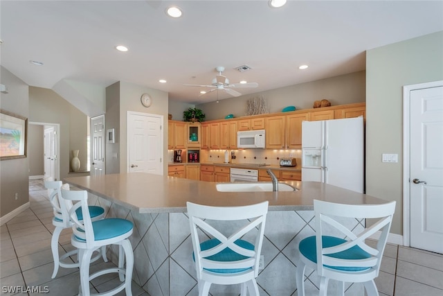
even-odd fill
[(28, 125), (29, 175), (44, 175), (44, 126)]

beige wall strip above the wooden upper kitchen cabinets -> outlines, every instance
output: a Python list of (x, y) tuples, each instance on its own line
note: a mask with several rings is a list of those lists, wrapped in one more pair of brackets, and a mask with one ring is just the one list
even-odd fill
[[(226, 98), (224, 100), (196, 105), (206, 114), (205, 120), (223, 119), (228, 114), (245, 116), (246, 102), (254, 96), (264, 96), (269, 112), (281, 112), (284, 107), (296, 106), (297, 110), (309, 109), (314, 101), (329, 100), (332, 105), (365, 102), (365, 71), (316, 80), (313, 82), (271, 89), (257, 94)], [(183, 110), (182, 110), (183, 117)], [(177, 119), (183, 120), (183, 119)]]

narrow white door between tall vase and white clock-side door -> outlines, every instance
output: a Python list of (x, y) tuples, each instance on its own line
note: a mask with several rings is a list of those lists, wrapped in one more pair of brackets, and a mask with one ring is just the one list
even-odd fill
[(105, 115), (91, 118), (91, 175), (105, 175)]

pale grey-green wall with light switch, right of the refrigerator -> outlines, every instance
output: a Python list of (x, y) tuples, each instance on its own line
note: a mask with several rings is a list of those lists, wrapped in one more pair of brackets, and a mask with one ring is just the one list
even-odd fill
[[(403, 234), (404, 85), (443, 80), (443, 31), (371, 49), (366, 55), (366, 193), (396, 200), (391, 232)], [(413, 141), (413, 139), (411, 139)], [(382, 163), (397, 153), (398, 163)]]

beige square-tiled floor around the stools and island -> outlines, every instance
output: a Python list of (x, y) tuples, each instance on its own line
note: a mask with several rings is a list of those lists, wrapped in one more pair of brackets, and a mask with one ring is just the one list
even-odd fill
[[(0, 227), (0, 294), (14, 295), (8, 293), (5, 287), (19, 286), (39, 289), (28, 292), (28, 295), (44, 292), (47, 295), (78, 295), (77, 268), (60, 268), (57, 277), (51, 279), (53, 214), (41, 182), (30, 181), (29, 195), (30, 209)], [(60, 236), (61, 254), (71, 250), (70, 242), (71, 234), (66, 229)], [(113, 263), (99, 260), (93, 264), (91, 270)], [(118, 283), (114, 275), (100, 277), (91, 282), (91, 293), (100, 293)], [(443, 296), (443, 255), (387, 245), (376, 283), (381, 296)], [(133, 295), (147, 295), (134, 281), (132, 284)], [(26, 295), (19, 292), (19, 295)], [(119, 295), (124, 294), (122, 291)]]

